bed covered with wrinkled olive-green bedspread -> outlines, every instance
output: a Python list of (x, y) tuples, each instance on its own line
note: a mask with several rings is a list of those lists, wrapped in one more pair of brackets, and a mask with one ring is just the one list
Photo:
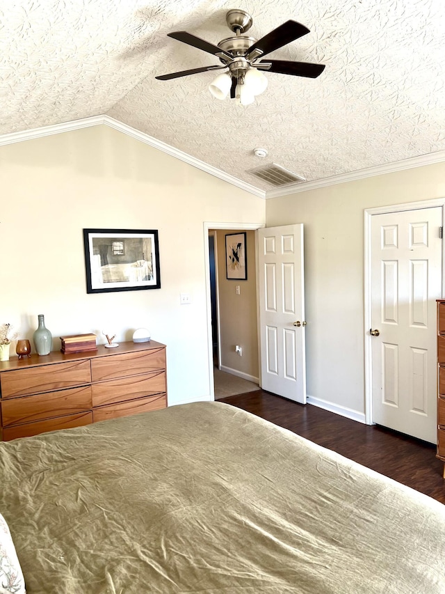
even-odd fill
[(445, 593), (445, 506), (221, 402), (0, 444), (28, 594)]

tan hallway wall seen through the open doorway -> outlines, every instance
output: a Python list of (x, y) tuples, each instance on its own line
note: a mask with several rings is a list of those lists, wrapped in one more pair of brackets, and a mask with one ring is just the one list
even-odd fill
[[(225, 235), (236, 230), (216, 231), (218, 258), (218, 293), (220, 317), (221, 369), (258, 381), (257, 275), (255, 232), (246, 231), (248, 278), (246, 281), (227, 280), (225, 269)], [(240, 294), (235, 288), (239, 286)], [(242, 355), (235, 352), (242, 347)]]

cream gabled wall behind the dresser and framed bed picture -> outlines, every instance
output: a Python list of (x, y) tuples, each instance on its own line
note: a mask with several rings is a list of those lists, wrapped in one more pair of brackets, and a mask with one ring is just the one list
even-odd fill
[[(106, 126), (3, 146), (0, 179), (0, 323), (31, 338), (43, 313), (55, 337), (100, 343), (147, 327), (168, 347), (170, 403), (208, 399), (203, 223), (262, 224), (264, 200)], [(83, 228), (158, 229), (161, 289), (87, 295)]]

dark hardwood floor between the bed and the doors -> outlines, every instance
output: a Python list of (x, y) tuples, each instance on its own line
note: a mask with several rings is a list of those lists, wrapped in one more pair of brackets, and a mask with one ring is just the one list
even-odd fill
[(426, 441), (351, 421), (312, 405), (299, 405), (262, 390), (218, 402), (261, 416), (445, 503), (444, 464), (435, 457), (436, 447)]

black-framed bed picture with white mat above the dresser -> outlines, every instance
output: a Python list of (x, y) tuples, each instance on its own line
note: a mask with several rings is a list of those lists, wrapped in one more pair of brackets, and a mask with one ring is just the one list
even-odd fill
[(86, 292), (160, 289), (158, 232), (83, 229)]

